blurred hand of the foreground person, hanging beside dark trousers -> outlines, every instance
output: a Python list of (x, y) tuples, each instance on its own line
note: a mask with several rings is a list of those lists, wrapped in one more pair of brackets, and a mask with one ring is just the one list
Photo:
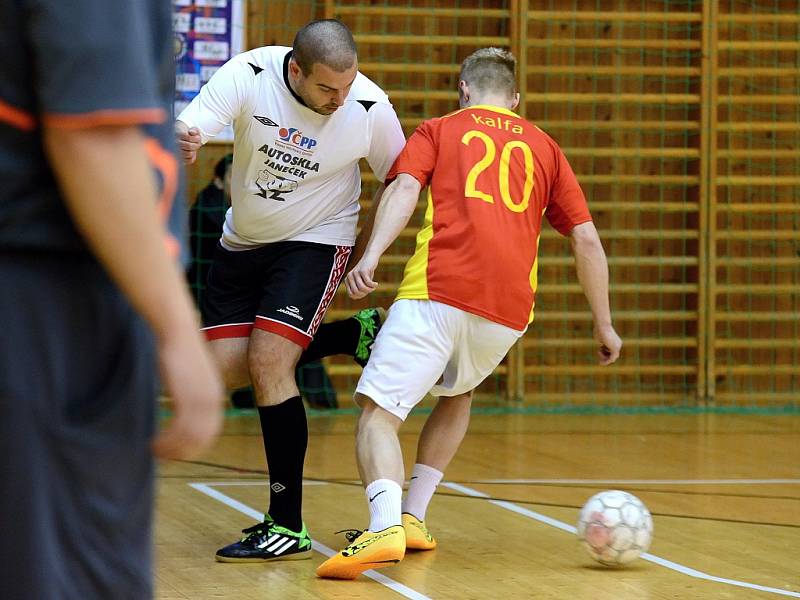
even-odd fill
[(159, 345), (161, 378), (174, 416), (153, 442), (159, 458), (191, 459), (207, 450), (222, 427), (224, 391), (199, 332), (189, 330)]

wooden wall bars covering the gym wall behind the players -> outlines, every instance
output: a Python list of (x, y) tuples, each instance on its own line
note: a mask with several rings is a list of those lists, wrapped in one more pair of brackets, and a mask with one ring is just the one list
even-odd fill
[[(351, 27), (407, 135), (457, 108), (467, 54), (510, 48), (520, 113), (558, 141), (589, 199), (622, 358), (595, 364), (568, 243), (545, 227), (536, 321), (484, 395), (545, 410), (800, 406), (795, 0), (250, 0), (248, 43), (290, 45), (322, 16)], [(366, 167), (364, 182), (368, 207)], [(372, 304), (391, 302), (420, 221), (387, 253)], [(360, 306), (340, 295), (331, 316)], [(348, 396), (358, 367), (329, 370)]]

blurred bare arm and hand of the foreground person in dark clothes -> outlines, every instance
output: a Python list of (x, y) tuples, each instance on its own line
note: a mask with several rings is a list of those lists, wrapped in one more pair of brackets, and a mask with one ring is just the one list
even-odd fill
[(43, 138), (78, 230), (156, 335), (175, 418), (154, 450), (165, 458), (196, 456), (221, 426), (222, 385), (166, 250), (144, 137), (126, 126), (45, 129)]

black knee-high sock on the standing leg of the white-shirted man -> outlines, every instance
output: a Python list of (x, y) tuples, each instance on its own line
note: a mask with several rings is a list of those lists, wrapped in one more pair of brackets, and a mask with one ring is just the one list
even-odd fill
[(308, 446), (306, 410), (300, 396), (276, 406), (259, 406), (269, 469), (269, 515), (280, 526), (303, 528), (303, 462)]

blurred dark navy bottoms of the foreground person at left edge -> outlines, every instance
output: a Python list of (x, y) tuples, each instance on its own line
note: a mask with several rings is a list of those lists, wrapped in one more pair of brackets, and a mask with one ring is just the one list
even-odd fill
[(152, 595), (153, 339), (91, 259), (0, 251), (0, 596)]

